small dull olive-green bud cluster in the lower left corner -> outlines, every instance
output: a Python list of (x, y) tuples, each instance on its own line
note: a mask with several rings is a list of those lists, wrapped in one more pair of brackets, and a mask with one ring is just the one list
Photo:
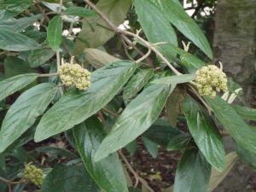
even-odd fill
[(24, 170), (24, 178), (35, 185), (41, 185), (44, 181), (44, 173), (36, 166), (27, 165)]

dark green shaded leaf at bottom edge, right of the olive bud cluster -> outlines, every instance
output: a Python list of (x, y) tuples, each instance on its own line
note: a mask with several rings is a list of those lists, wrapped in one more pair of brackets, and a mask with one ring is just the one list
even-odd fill
[(100, 192), (101, 189), (90, 177), (90, 173), (83, 164), (72, 166), (57, 164), (44, 178), (40, 192), (56, 191)]

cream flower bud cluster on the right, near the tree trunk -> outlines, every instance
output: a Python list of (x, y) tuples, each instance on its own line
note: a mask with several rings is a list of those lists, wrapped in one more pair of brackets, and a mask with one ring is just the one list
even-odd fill
[[(222, 67), (222, 66), (221, 66)], [(209, 65), (207, 67), (201, 67), (200, 70), (196, 71), (196, 82), (199, 94), (201, 96), (216, 96), (216, 91), (220, 90), (227, 91), (227, 76), (222, 72), (222, 69), (214, 65)], [(215, 90), (213, 90), (215, 87)]]

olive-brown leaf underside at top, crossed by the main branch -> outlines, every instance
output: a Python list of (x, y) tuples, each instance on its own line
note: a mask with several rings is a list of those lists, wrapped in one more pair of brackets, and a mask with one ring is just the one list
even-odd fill
[[(119, 26), (126, 17), (127, 11), (131, 7), (131, 0), (119, 1), (119, 0), (100, 0), (96, 3), (97, 9), (100, 9), (102, 13), (112, 21), (114, 26)], [(113, 11), (114, 10), (114, 11)], [(86, 18), (83, 22), (82, 30), (79, 32), (79, 38), (84, 38), (90, 48), (97, 48), (102, 44), (105, 44), (108, 39), (112, 38), (114, 33), (106, 30), (102, 26), (109, 26), (100, 16), (92, 16)], [(88, 48), (86, 44), (77, 39), (73, 55), (83, 54), (83, 50)]]

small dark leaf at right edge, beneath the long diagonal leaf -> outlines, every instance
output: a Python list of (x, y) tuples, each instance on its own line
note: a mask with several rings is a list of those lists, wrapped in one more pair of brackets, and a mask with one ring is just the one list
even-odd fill
[(251, 151), (248, 151), (246, 148), (241, 147), (241, 145), (236, 143), (236, 141), (234, 141), (234, 143), (236, 153), (238, 154), (240, 160), (247, 163), (253, 169), (253, 171), (256, 172), (256, 155)]

